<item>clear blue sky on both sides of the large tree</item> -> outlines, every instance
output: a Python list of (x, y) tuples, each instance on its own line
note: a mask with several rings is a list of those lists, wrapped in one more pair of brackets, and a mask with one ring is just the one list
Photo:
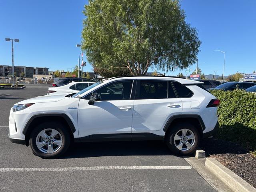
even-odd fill
[[(81, 42), (83, 0), (0, 0), (0, 65), (14, 64), (67, 70), (78, 63)], [(256, 70), (255, 0), (182, 0), (186, 21), (197, 28), (202, 41), (199, 68), (205, 74), (221, 75), (226, 52), (225, 75)], [(196, 65), (191, 66), (195, 69)], [(150, 69), (151, 70), (151, 69)], [(153, 69), (152, 69), (153, 70)], [(152, 71), (151, 70), (151, 71)], [(85, 71), (92, 71), (90, 65)], [(176, 75), (185, 70), (168, 72)]]

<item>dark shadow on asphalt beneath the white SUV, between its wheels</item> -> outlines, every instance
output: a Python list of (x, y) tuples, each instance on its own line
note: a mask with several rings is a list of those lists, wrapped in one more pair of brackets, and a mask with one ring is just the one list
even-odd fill
[(162, 141), (74, 143), (61, 157), (84, 158), (129, 155), (173, 155)]

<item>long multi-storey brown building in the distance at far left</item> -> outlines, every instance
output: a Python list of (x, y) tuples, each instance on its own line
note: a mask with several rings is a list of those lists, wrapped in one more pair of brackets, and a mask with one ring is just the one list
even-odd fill
[[(25, 67), (14, 66), (14, 74), (20, 77), (24, 73), (24, 77), (33, 77), (33, 75), (48, 75), (49, 68), (46, 67)], [(12, 76), (12, 66), (0, 65), (0, 76)]]

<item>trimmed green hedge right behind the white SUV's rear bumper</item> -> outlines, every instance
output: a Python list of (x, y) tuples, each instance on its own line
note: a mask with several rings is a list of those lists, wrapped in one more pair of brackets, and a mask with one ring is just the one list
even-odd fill
[(242, 144), (256, 154), (256, 94), (244, 90), (211, 90), (220, 100), (218, 138)]

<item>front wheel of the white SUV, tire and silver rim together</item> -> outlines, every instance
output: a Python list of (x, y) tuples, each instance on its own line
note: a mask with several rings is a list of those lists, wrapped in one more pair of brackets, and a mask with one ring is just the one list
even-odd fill
[(70, 146), (70, 134), (59, 122), (45, 122), (36, 126), (30, 135), (33, 153), (42, 158), (56, 158)]

